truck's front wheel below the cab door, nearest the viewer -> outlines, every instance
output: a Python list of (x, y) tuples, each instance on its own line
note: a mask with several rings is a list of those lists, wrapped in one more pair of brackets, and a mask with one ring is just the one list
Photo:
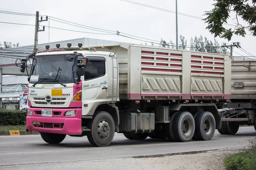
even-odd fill
[(94, 113), (89, 128), (87, 139), (93, 146), (105, 147), (112, 142), (115, 134), (115, 124), (113, 117), (108, 112), (97, 111)]

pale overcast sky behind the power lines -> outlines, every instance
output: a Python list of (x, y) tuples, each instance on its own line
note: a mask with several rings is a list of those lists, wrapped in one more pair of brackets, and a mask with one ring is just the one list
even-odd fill
[[(137, 3), (143, 3), (149, 6), (163, 8), (175, 11), (175, 0), (132, 0)], [(204, 11), (213, 8), (213, 0), (177, 0), (178, 12), (189, 14), (195, 17), (204, 18)], [(22, 12), (35, 14), (39, 11), (41, 15), (50, 17), (49, 21), (41, 22), (40, 28), (50, 26), (55, 28), (63, 28), (75, 31), (86, 31), (94, 33), (103, 33), (76, 26), (70, 26), (51, 20), (51, 17), (78, 23), (85, 26), (101, 28), (111, 31), (119, 31), (131, 34), (137, 37), (143, 37), (150, 40), (160, 41), (161, 38), (169, 42), (176, 42), (175, 13), (161, 11), (145, 6), (139, 6), (127, 3), (122, 0), (0, 0), (0, 10)], [(233, 15), (234, 16), (234, 15)], [(233, 16), (229, 20), (229, 24), (233, 23)], [(35, 17), (20, 16), (0, 13), (0, 22), (22, 23), (35, 25)], [(189, 45), (191, 37), (203, 35), (209, 40), (213, 40), (214, 36), (206, 29), (207, 24), (204, 21), (192, 17), (178, 14), (178, 34), (182, 34)], [(234, 28), (225, 26), (226, 28)], [(143, 43), (143, 41), (133, 40), (127, 37), (104, 34), (88, 34), (81, 32), (65, 31), (55, 28), (45, 28), (38, 34), (38, 43), (55, 42), (61, 40), (70, 40), (82, 37), (96, 38), (103, 40), (113, 40), (119, 42)], [(0, 23), (0, 42), (8, 41), (19, 43), (20, 45), (32, 45), (34, 43), (35, 26), (22, 26)], [(114, 32), (113, 32), (114, 33)], [(49, 37), (48, 37), (49, 36)], [(131, 37), (131, 36), (129, 36)], [(136, 38), (136, 37), (134, 37)], [(219, 43), (240, 42), (241, 47), (253, 56), (256, 56), (256, 37), (247, 35), (246, 37), (233, 36), (228, 42), (225, 39), (216, 37)], [(149, 41), (150, 41), (149, 40)], [(150, 43), (148, 43), (150, 44)], [(246, 55), (239, 48), (234, 48), (234, 56)]]

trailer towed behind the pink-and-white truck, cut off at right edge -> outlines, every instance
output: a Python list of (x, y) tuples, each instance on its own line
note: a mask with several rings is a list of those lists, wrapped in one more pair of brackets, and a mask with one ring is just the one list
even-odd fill
[(231, 63), (231, 100), (221, 110), (221, 134), (236, 134), (241, 125), (253, 125), (256, 130), (256, 61), (233, 57)]

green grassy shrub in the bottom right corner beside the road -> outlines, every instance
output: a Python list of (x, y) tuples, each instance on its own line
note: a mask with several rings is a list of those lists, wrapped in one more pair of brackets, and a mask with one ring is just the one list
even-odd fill
[(256, 138), (250, 141), (247, 149), (228, 155), (224, 166), (227, 170), (256, 170)]

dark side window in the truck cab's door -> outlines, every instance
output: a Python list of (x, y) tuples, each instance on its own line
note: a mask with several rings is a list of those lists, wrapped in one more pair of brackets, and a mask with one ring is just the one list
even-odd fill
[(84, 80), (102, 77), (105, 72), (105, 61), (88, 61), (84, 68)]

